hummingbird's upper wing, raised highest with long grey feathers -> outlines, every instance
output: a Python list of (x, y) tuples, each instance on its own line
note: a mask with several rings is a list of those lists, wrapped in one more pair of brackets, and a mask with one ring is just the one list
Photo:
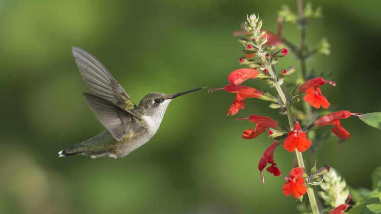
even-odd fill
[(80, 47), (73, 46), (72, 50), (82, 78), (92, 94), (126, 110), (136, 107), (123, 87), (97, 58)]

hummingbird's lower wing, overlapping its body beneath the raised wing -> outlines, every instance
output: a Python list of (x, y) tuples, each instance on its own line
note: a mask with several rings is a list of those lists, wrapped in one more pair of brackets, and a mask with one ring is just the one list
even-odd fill
[(130, 126), (127, 124), (130, 123), (131, 120), (141, 119), (134, 113), (122, 109), (97, 95), (84, 93), (84, 96), (95, 116), (117, 141), (120, 141), (130, 132)]

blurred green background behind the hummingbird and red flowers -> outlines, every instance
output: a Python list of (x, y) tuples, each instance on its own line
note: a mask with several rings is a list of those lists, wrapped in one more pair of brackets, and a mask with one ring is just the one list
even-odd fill
[[(85, 103), (72, 45), (95, 55), (135, 103), (149, 92), (223, 87), (243, 67), (233, 31), (255, 13), (276, 32), (283, 3), (296, 11), (295, 0), (0, 1), (0, 213), (296, 213), (299, 203), (281, 191), (294, 154), (275, 150), (282, 174), (265, 171), (262, 186), (258, 161), (272, 141), (265, 134), (242, 139), (254, 124), (235, 122), (252, 113), (285, 117), (257, 99), (227, 117), (235, 95), (225, 91), (177, 98), (156, 135), (123, 159), (57, 154), (104, 130)], [(332, 53), (309, 59), (308, 68), (333, 73), (337, 86), (321, 87), (330, 109), (381, 111), (381, 1), (318, 4), (324, 17), (309, 24), (307, 43), (325, 36)], [(298, 29), (285, 23), (284, 36), (297, 43)], [(290, 65), (299, 66), (292, 53), (276, 68)], [(318, 165), (336, 168), (352, 187), (370, 188), (381, 165), (381, 131), (357, 117), (341, 125), (351, 140), (324, 142)]]

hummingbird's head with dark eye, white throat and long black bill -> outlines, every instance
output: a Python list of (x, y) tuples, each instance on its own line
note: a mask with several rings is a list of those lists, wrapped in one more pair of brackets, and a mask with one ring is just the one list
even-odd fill
[(176, 94), (165, 94), (159, 92), (149, 93), (144, 96), (142, 100), (140, 100), (138, 110), (142, 115), (163, 118), (164, 113), (166, 112), (167, 107), (173, 98), (199, 89), (201, 88), (195, 88)]

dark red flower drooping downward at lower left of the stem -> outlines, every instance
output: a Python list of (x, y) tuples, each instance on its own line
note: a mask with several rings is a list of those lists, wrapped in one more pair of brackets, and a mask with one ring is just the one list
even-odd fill
[(259, 161), (258, 169), (261, 175), (262, 185), (265, 185), (263, 169), (265, 169), (267, 164), (271, 164), (271, 166), (266, 169), (268, 172), (274, 174), (275, 176), (280, 175), (280, 170), (279, 168), (275, 167), (276, 164), (274, 163), (274, 150), (276, 148), (276, 144), (276, 141), (273, 144), (271, 144), (270, 147), (265, 150), (261, 157), (261, 160)]

